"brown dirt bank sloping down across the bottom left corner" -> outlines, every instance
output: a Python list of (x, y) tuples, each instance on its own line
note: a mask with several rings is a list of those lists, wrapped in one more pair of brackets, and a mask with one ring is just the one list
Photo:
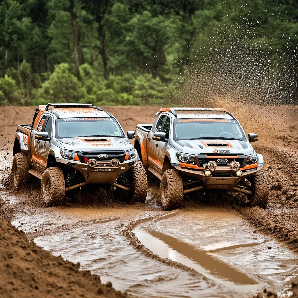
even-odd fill
[(0, 297), (127, 297), (80, 264), (54, 257), (10, 224), (0, 198)]

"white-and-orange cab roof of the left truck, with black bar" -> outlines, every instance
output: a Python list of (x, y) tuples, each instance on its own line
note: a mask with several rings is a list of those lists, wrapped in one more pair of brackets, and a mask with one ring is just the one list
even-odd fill
[(95, 118), (111, 118), (110, 113), (103, 111), (102, 108), (92, 104), (83, 103), (48, 103), (40, 105), (39, 110), (49, 111), (56, 115), (57, 118), (77, 118), (77, 117), (95, 117)]

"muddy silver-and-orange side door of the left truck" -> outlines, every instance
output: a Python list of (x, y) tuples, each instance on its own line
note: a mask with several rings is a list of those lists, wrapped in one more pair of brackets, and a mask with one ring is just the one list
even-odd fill
[(39, 131), (47, 131), (49, 138), (52, 135), (52, 123), (51, 117), (44, 115), (32, 130), (30, 137), (31, 156), (32, 162), (36, 169), (44, 171), (46, 169), (46, 161), (49, 152), (49, 142), (35, 139), (35, 135)]

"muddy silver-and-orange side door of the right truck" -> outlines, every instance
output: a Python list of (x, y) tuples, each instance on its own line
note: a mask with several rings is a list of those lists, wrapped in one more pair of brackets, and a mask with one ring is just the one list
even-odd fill
[(166, 116), (167, 115), (161, 115), (156, 120), (156, 125), (153, 125), (152, 129), (148, 133), (148, 141), (147, 141), (148, 164), (158, 171), (162, 169), (162, 165), (160, 164), (159, 158), (156, 154), (157, 142), (152, 139), (152, 136), (156, 131), (161, 131), (162, 125), (164, 123), (164, 119), (166, 118)]

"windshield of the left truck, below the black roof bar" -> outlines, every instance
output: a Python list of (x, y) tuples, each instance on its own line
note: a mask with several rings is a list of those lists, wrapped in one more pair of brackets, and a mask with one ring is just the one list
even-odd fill
[(123, 138), (114, 118), (61, 118), (56, 120), (56, 138), (110, 136)]

